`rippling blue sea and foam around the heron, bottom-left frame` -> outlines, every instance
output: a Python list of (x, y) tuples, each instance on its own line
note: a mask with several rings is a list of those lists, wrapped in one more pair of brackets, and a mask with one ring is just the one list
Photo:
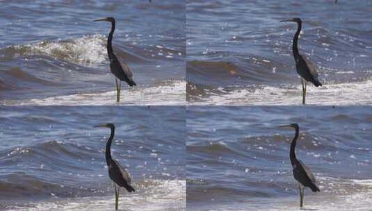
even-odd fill
[(113, 158), (134, 193), (124, 210), (185, 210), (184, 107), (20, 106), (0, 108), (0, 210), (113, 210), (104, 158), (116, 126)]

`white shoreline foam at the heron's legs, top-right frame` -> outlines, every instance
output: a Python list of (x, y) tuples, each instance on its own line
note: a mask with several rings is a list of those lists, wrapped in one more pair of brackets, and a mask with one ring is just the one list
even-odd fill
[[(302, 86), (280, 88), (263, 87), (258, 89), (236, 89), (223, 94), (211, 93), (193, 105), (300, 105)], [(339, 83), (323, 87), (307, 86), (308, 105), (371, 105), (372, 81)]]

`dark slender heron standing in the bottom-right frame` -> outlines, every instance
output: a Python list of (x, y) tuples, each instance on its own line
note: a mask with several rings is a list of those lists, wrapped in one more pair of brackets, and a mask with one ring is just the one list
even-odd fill
[(315, 177), (312, 174), (312, 171), (310, 171), (309, 167), (307, 167), (301, 160), (298, 160), (296, 158), (295, 148), (298, 139), (298, 132), (300, 130), (298, 124), (289, 124), (280, 127), (291, 127), (295, 128), (296, 130), (295, 137), (293, 137), (293, 140), (291, 142), (289, 158), (291, 159), (291, 164), (293, 167), (293, 177), (297, 180), (298, 183), (298, 190), (300, 192), (300, 208), (302, 208), (305, 187), (309, 187), (310, 189), (312, 189), (312, 192), (320, 192), (321, 190), (316, 185)]

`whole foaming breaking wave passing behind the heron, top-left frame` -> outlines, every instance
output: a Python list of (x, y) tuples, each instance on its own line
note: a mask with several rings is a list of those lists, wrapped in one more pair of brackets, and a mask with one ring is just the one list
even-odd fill
[[(19, 56), (49, 56), (55, 60), (71, 62), (84, 67), (100, 67), (108, 65), (105, 35), (83, 35), (67, 40), (43, 40), (32, 44), (18, 44), (0, 50), (2, 61), (12, 60)], [(125, 49), (125, 50), (123, 50)], [(149, 62), (149, 58), (178, 58), (182, 54), (163, 46), (138, 47), (135, 44), (113, 43), (113, 50), (119, 59), (126, 62)], [(159, 52), (157, 52), (159, 51)]]

